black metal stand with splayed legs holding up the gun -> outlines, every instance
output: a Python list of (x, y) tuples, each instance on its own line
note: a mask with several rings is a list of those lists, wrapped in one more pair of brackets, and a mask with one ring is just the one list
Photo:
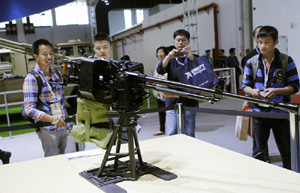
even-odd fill
[[(144, 174), (152, 174), (164, 180), (172, 180), (177, 175), (143, 162), (136, 133), (138, 116), (135, 112), (109, 111), (110, 127), (114, 129), (100, 168), (83, 171), (80, 174), (106, 192), (126, 192), (114, 183), (124, 180), (137, 180)], [(113, 124), (113, 117), (119, 117)], [(128, 142), (128, 153), (121, 153), (122, 142)], [(111, 153), (116, 144), (116, 152)], [(137, 155), (137, 159), (135, 158)], [(129, 157), (127, 161), (121, 158)], [(106, 165), (107, 161), (113, 164)]]

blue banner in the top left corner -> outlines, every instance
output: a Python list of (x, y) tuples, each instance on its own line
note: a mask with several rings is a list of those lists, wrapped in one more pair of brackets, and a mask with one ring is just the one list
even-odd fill
[(0, 0), (0, 22), (40, 13), (74, 0)]

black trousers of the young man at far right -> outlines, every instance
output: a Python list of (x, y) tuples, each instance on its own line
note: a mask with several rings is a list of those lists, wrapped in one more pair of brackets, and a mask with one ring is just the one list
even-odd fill
[(286, 119), (268, 119), (253, 117), (253, 154), (254, 158), (264, 160), (268, 157), (268, 139), (270, 131), (280, 152), (283, 167), (291, 169), (290, 124)]

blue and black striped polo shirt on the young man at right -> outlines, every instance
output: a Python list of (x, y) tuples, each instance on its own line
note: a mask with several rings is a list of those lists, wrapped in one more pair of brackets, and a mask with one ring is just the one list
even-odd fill
[[(269, 73), (268, 73), (268, 81), (266, 84), (266, 88), (284, 88), (286, 86), (292, 86), (294, 89), (294, 93), (298, 92), (299, 90), (299, 77), (296, 68), (296, 64), (293, 59), (289, 56), (288, 57), (288, 64), (286, 68), (286, 79), (282, 79), (282, 64), (281, 64), (281, 54), (278, 49), (275, 48), (275, 55), (274, 59), (270, 65)], [(262, 55), (259, 53), (258, 58), (258, 68), (255, 78), (255, 83), (253, 86), (253, 75), (252, 75), (252, 63), (251, 58), (247, 60), (245, 69), (244, 69), (244, 76), (243, 76), (243, 84), (242, 89), (246, 86), (253, 87), (254, 89), (259, 89), (260, 91), (265, 90), (264, 86), (264, 65), (262, 63)], [(290, 103), (290, 95), (283, 96), (277, 95), (272, 101), (275, 102), (284, 102)], [(252, 105), (253, 112), (285, 112), (283, 110), (274, 109), (274, 108), (264, 108), (258, 105)]]

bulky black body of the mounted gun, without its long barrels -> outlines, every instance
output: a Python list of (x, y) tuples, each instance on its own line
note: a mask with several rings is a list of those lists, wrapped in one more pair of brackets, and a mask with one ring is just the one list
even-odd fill
[(144, 66), (132, 61), (83, 58), (80, 62), (65, 61), (63, 70), (64, 82), (77, 83), (81, 97), (111, 104), (115, 110), (137, 110), (148, 93), (141, 81), (125, 72), (143, 74)]

